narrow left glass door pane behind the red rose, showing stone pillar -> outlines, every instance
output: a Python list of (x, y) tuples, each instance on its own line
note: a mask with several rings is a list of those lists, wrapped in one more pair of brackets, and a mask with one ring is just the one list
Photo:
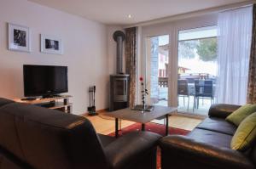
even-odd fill
[(147, 38), (148, 103), (168, 105), (169, 35)]

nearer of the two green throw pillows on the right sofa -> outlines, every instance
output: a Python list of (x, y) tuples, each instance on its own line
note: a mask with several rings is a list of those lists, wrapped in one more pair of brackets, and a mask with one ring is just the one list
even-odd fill
[(241, 121), (231, 140), (231, 149), (245, 151), (256, 138), (256, 112)]

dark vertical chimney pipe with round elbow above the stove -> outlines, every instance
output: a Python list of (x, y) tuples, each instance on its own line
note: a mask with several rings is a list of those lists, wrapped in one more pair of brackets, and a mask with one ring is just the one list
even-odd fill
[(123, 72), (123, 41), (125, 40), (125, 33), (123, 31), (115, 31), (113, 33), (113, 40), (117, 43), (116, 73), (124, 74), (124, 72)]

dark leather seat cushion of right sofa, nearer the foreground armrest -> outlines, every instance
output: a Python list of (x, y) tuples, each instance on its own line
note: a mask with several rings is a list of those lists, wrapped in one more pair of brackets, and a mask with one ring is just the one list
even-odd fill
[(194, 139), (196, 142), (210, 144), (212, 146), (224, 147), (230, 149), (230, 142), (232, 136), (220, 132), (212, 132), (201, 128), (195, 128), (189, 132), (189, 138)]

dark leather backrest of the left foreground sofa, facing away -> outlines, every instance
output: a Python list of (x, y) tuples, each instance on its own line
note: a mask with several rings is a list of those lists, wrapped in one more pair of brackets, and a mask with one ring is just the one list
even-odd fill
[(90, 121), (34, 105), (14, 103), (0, 108), (0, 148), (25, 168), (108, 166)]

